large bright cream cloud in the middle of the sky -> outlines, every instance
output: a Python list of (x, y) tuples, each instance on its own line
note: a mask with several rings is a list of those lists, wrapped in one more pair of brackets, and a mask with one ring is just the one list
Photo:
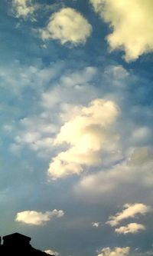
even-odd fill
[(80, 174), (83, 165), (99, 165), (100, 151), (116, 149), (118, 136), (110, 131), (119, 115), (119, 108), (113, 101), (96, 98), (85, 106), (71, 109), (70, 116), (60, 128), (54, 145), (66, 143), (69, 148), (61, 151), (50, 162), (50, 178), (62, 178)]

